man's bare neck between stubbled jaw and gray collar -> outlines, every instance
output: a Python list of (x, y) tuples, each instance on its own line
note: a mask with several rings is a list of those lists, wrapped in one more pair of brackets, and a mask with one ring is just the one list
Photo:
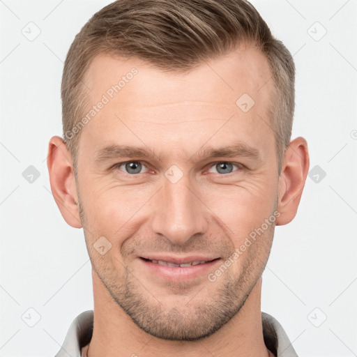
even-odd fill
[(94, 321), (87, 357), (273, 357), (261, 324), (261, 278), (241, 310), (213, 335), (197, 341), (169, 341), (142, 331), (107, 294), (93, 272)]

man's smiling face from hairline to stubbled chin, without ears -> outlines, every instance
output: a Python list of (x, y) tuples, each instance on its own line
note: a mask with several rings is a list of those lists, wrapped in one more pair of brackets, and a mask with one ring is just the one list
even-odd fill
[[(137, 73), (127, 75), (132, 68)], [(123, 76), (120, 91), (110, 91)], [(86, 245), (107, 293), (147, 333), (171, 340), (211, 335), (240, 310), (264, 271), (274, 231), (266, 220), (278, 198), (270, 77), (268, 61), (253, 48), (186, 75), (138, 59), (100, 55), (91, 63), (91, 105), (103, 94), (109, 102), (79, 142)], [(236, 105), (244, 93), (255, 101), (250, 109), (248, 96)], [(121, 156), (108, 146), (151, 156)], [(240, 150), (209, 156), (208, 149), (224, 148)], [(170, 267), (143, 259), (194, 256), (216, 260)], [(215, 273), (229, 257), (227, 269)]]

